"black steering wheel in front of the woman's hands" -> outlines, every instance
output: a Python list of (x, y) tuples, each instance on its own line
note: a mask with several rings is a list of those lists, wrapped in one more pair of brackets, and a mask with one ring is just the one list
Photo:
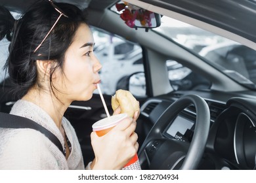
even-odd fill
[[(189, 105), (196, 107), (192, 141), (163, 135), (177, 114)], [(210, 127), (207, 103), (198, 95), (184, 95), (167, 107), (148, 133), (138, 153), (142, 169), (197, 169), (202, 159)]]

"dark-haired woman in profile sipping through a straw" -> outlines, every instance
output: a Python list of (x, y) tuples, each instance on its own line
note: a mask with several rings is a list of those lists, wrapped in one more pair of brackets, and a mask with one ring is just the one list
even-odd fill
[[(0, 12), (0, 38), (11, 41), (6, 67), (21, 95), (11, 114), (47, 128), (65, 149), (63, 156), (33, 129), (0, 129), (0, 169), (85, 169), (74, 128), (63, 116), (72, 101), (91, 99), (100, 82), (102, 66), (82, 11), (66, 3), (37, 1), (19, 20), (4, 7)], [(91, 133), (95, 159), (86, 169), (121, 169), (136, 154), (138, 116), (125, 118), (103, 137)]]

